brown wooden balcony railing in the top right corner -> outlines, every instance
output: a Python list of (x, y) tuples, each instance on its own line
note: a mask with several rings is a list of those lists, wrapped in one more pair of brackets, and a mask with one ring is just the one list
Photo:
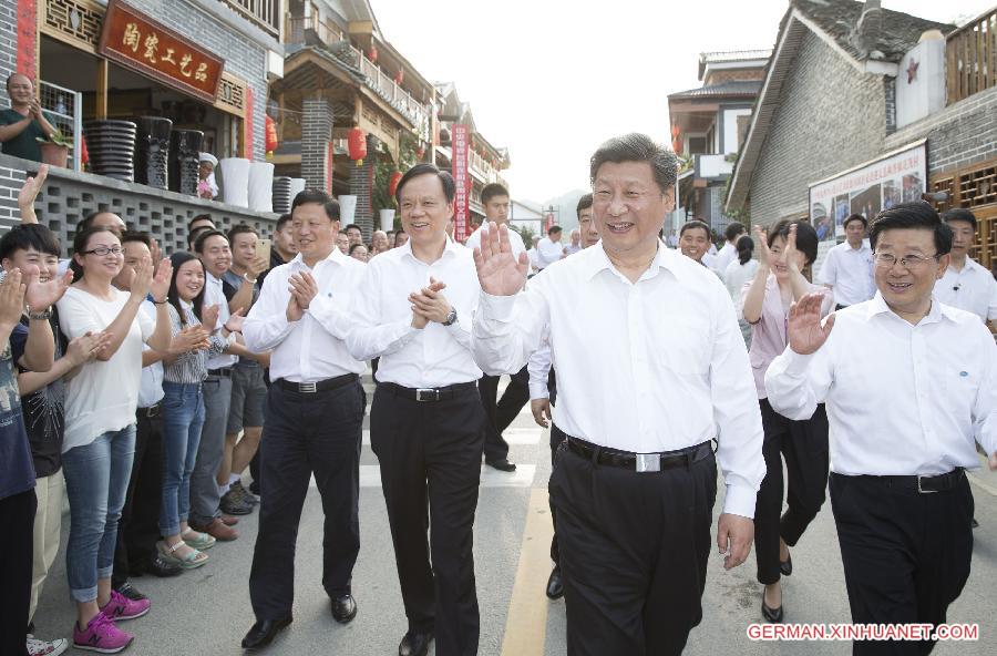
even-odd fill
[(948, 104), (997, 86), (997, 8), (947, 37), (945, 64)]

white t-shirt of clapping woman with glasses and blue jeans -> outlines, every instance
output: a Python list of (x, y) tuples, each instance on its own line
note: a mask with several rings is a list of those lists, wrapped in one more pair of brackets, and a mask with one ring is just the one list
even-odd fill
[[(113, 291), (114, 300), (106, 301), (75, 287), (65, 290), (56, 307), (60, 326), (68, 339), (104, 330), (117, 318), (131, 295), (120, 289)], [(85, 447), (106, 432), (135, 423), (142, 378), (142, 345), (155, 328), (155, 320), (140, 311), (110, 360), (88, 362), (66, 381), (63, 453), (75, 447)]]

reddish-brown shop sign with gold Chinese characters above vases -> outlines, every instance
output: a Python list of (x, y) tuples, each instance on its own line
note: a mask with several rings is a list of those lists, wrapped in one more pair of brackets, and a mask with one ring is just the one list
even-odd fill
[(215, 101), (225, 61), (145, 17), (111, 0), (100, 53), (207, 102)]

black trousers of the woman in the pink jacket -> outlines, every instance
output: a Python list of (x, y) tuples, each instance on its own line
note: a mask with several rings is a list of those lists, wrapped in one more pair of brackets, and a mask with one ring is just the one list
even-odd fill
[[(820, 403), (813, 417), (793, 421), (772, 410), (768, 399), (760, 399), (758, 404), (765, 432), (765, 478), (754, 504), (754, 560), (759, 583), (771, 585), (780, 577), (779, 539), (795, 546), (826, 498), (828, 413)], [(783, 488), (788, 506), (784, 513)]]

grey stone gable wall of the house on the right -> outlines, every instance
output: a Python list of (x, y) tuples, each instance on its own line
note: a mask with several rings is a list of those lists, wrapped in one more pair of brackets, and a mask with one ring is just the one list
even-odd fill
[(808, 212), (809, 185), (872, 160), (886, 134), (884, 79), (808, 32), (751, 178), (751, 221)]

